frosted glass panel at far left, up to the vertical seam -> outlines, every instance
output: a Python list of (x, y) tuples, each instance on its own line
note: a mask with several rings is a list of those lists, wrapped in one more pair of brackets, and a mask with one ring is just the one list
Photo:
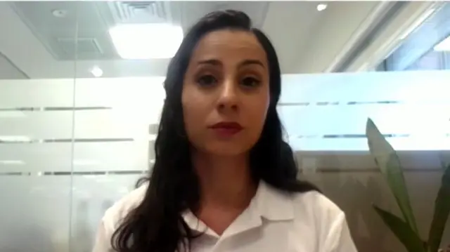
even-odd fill
[(67, 251), (73, 88), (73, 79), (0, 81), (2, 252)]

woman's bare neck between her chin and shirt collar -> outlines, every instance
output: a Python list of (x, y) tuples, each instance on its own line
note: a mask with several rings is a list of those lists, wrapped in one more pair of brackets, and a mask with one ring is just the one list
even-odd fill
[(214, 205), (243, 210), (250, 204), (256, 185), (247, 155), (193, 153), (192, 161), (200, 182), (200, 208)]

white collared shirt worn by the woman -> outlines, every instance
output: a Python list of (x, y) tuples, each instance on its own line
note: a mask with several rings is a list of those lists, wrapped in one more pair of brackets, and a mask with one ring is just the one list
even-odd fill
[[(93, 252), (111, 252), (111, 235), (120, 220), (146, 192), (139, 187), (109, 208)], [(183, 214), (192, 230), (192, 252), (356, 252), (345, 214), (319, 192), (286, 194), (261, 182), (248, 208), (220, 236), (191, 213)]]

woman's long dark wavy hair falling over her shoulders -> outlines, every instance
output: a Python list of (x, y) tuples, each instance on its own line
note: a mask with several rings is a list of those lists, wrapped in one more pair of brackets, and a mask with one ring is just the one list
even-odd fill
[[(240, 11), (217, 11), (201, 18), (186, 34), (167, 69), (166, 99), (155, 140), (155, 164), (146, 180), (143, 201), (117, 228), (111, 243), (119, 252), (175, 252), (189, 250), (198, 237), (184, 222), (183, 211), (195, 212), (200, 201), (198, 178), (191, 164), (190, 144), (184, 129), (181, 91), (189, 59), (205, 34), (233, 29), (255, 35), (269, 63), (270, 105), (258, 142), (250, 151), (250, 169), (255, 180), (264, 180), (285, 192), (316, 190), (297, 180), (293, 152), (283, 141), (283, 128), (276, 111), (281, 93), (281, 70), (269, 39), (253, 28), (248, 15)], [(276, 207), (276, 206), (274, 206)]]

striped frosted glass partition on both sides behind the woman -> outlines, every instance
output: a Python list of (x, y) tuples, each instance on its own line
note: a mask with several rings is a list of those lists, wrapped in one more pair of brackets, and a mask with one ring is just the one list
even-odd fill
[[(373, 168), (371, 117), (409, 168), (437, 168), (450, 150), (449, 80), (285, 75), (278, 111), (300, 166)], [(105, 209), (151, 165), (163, 81), (77, 79), (75, 90), (72, 79), (0, 81), (0, 251), (89, 251)]]

